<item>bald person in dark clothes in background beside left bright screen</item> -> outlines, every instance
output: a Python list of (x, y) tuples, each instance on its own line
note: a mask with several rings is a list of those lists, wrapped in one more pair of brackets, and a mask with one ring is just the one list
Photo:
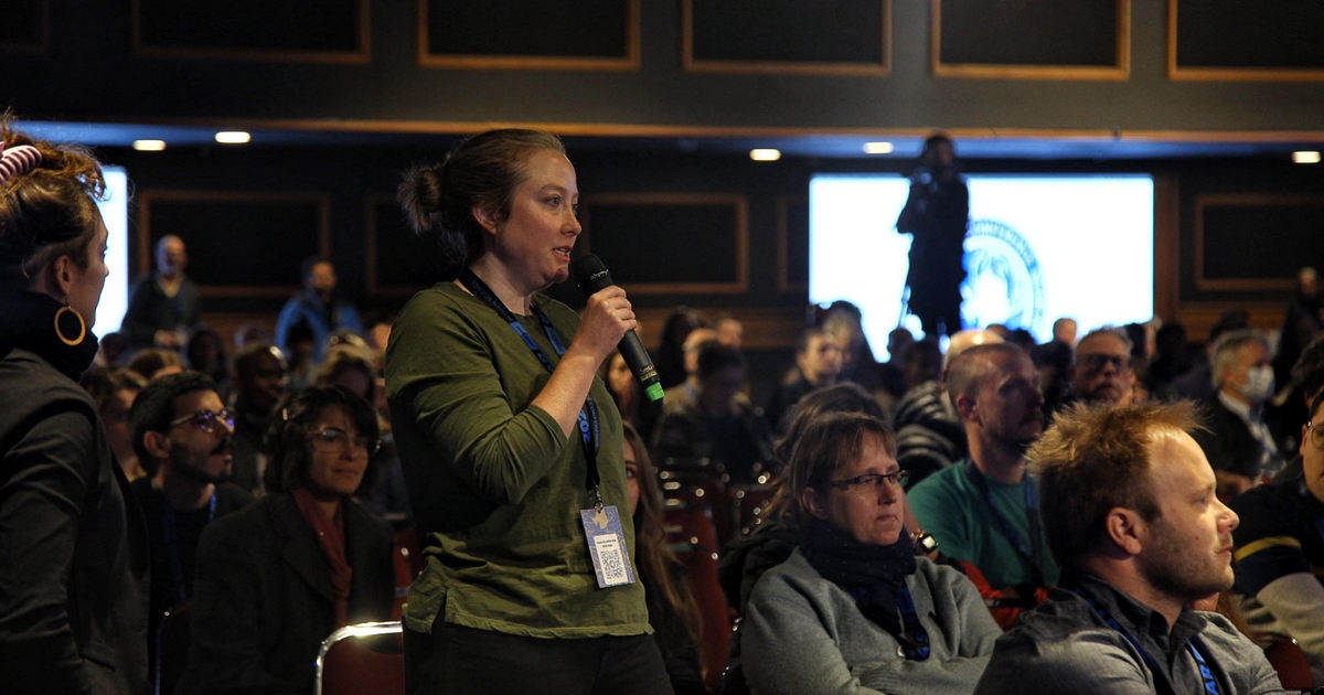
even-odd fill
[(197, 285), (184, 274), (184, 240), (167, 234), (156, 242), (156, 273), (139, 277), (128, 289), (123, 328), (134, 348), (181, 349), (197, 326)]

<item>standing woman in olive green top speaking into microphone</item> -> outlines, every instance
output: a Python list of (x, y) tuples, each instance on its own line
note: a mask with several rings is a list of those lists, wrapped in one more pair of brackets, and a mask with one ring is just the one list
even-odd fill
[(442, 266), (387, 347), (425, 559), (409, 691), (670, 692), (630, 557), (621, 418), (594, 377), (634, 311), (616, 286), (583, 316), (540, 294), (583, 230), (564, 146), (487, 131), (409, 171), (400, 200)]

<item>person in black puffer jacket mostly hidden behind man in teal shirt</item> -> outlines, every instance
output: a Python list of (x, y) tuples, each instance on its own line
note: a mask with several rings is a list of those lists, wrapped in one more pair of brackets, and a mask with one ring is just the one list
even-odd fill
[[(961, 352), (1002, 339), (989, 331), (969, 330), (952, 336), (945, 363)], [(945, 371), (945, 367), (944, 367)], [(896, 432), (896, 462), (915, 486), (924, 478), (965, 458), (965, 428), (941, 379), (924, 381), (906, 392), (892, 417)]]

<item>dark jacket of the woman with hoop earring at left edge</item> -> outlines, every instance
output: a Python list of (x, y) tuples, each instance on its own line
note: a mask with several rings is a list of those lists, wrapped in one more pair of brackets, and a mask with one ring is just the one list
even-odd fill
[(86, 392), (0, 353), (0, 691), (143, 694), (147, 530), (128, 481)]

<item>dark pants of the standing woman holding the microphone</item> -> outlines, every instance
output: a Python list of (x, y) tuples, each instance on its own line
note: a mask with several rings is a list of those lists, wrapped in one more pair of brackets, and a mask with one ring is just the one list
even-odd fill
[(409, 695), (671, 695), (653, 635), (544, 639), (444, 621), (405, 629)]

